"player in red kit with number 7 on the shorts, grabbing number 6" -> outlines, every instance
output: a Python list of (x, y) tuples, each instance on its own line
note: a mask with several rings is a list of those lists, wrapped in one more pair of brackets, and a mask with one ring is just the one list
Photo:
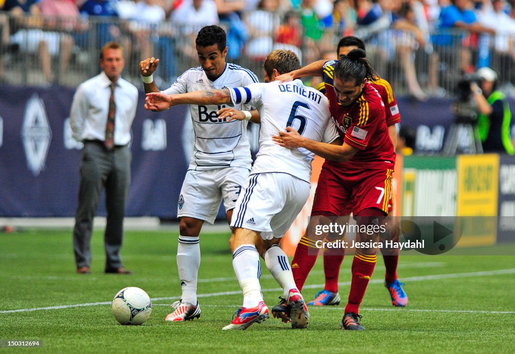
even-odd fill
[(308, 253), (317, 253), (316, 241), (326, 236), (319, 232), (320, 226), (348, 214), (351, 205), (359, 227), (356, 242), (361, 244), (356, 247), (352, 262), (351, 289), (340, 328), (364, 330), (359, 323), (359, 305), (375, 267), (377, 257), (372, 241), (388, 212), (396, 155), (388, 136), (383, 100), (369, 82), (377, 75), (365, 59), (364, 50), (354, 49), (337, 62), (318, 61), (276, 79), (289, 81), (319, 75), (321, 70), (329, 109), (344, 144), (321, 144), (305, 139), (291, 128), (273, 137), (281, 146), (305, 148), (326, 159), (303, 238), (307, 244), (299, 243), (291, 268), (295, 279), (301, 280), (297, 286), (302, 287), (302, 279), (316, 261)]

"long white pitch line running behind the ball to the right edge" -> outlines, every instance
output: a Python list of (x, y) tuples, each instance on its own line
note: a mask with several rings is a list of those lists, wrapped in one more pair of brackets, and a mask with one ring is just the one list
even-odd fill
[[(469, 272), (469, 273), (450, 273), (450, 274), (435, 274), (435, 275), (425, 275), (418, 277), (409, 277), (403, 278), (404, 281), (423, 281), (423, 280), (435, 280), (435, 279), (451, 279), (451, 278), (468, 278), (468, 277), (476, 277), (476, 276), (489, 276), (489, 275), (501, 275), (501, 274), (515, 274), (515, 269), (498, 269), (494, 271), (482, 271), (482, 272)], [(383, 284), (383, 279), (373, 279), (370, 280), (371, 284)], [(350, 285), (350, 281), (339, 282), (339, 286), (348, 286)], [(323, 284), (316, 285), (308, 285), (303, 289), (317, 289), (323, 287)], [(262, 292), (273, 292), (273, 291), (283, 291), (281, 288), (274, 289), (262, 289)], [(225, 296), (225, 295), (239, 295), (242, 292), (240, 290), (237, 291), (224, 291), (218, 293), (208, 293), (208, 294), (198, 294), (197, 297), (212, 297), (212, 296)], [(167, 296), (167, 297), (152, 297), (152, 301), (159, 300), (171, 300), (177, 299), (179, 296)], [(40, 311), (40, 310), (58, 310), (58, 309), (68, 309), (74, 307), (84, 307), (84, 306), (97, 306), (97, 305), (109, 305), (110, 301), (99, 302), (99, 303), (88, 303), (88, 304), (75, 304), (75, 305), (60, 305), (60, 306), (48, 306), (48, 307), (37, 307), (30, 309), (16, 309), (16, 310), (3, 310), (0, 313), (14, 313), (14, 312), (32, 312), (32, 311)]]

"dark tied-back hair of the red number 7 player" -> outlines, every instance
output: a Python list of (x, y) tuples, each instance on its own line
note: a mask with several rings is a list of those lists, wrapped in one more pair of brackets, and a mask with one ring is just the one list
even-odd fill
[(377, 74), (368, 62), (363, 49), (352, 49), (349, 54), (341, 57), (334, 66), (334, 76), (342, 82), (353, 81), (356, 85), (366, 78), (373, 81)]

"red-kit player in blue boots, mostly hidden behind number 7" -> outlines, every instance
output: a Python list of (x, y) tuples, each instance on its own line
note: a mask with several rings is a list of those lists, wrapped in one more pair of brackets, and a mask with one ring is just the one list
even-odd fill
[[(338, 58), (346, 56), (352, 49), (363, 49), (365, 50), (365, 43), (354, 36), (344, 37), (338, 43), (336, 49)], [(372, 86), (379, 92), (383, 102), (385, 104), (385, 119), (386, 125), (388, 126), (388, 134), (392, 140), (393, 146), (397, 145), (397, 128), (396, 124), (401, 121), (401, 114), (397, 106), (397, 101), (393, 95), (393, 91), (390, 83), (382, 78), (376, 78), (370, 81)], [(325, 93), (325, 83), (320, 83), (317, 87), (320, 91)], [(344, 217), (340, 218), (339, 222), (348, 222), (351, 212), (351, 206), (348, 207), (348, 213)], [(392, 239), (394, 242), (399, 241), (398, 229), (394, 228), (393, 218), (393, 193), (390, 195), (388, 202), (388, 219), (385, 222), (387, 225), (386, 238)], [(336, 235), (336, 239), (342, 239), (344, 235)], [(329, 237), (328, 241), (332, 241), (334, 238)], [(309, 245), (309, 242), (305, 239), (301, 239), (300, 242)], [(381, 248), (381, 254), (385, 263), (385, 287), (388, 289), (391, 297), (393, 306), (404, 307), (408, 303), (408, 297), (402, 289), (403, 283), (398, 280), (397, 266), (399, 264), (399, 249), (393, 248)], [(313, 255), (311, 257), (317, 257)], [(308, 303), (308, 305), (324, 306), (324, 305), (339, 305), (340, 295), (338, 293), (338, 276), (340, 273), (341, 263), (345, 257), (345, 249), (343, 248), (325, 248), (323, 253), (323, 268), (325, 275), (325, 286), (324, 289), (316, 294), (316, 298)], [(304, 279), (305, 281), (305, 279)], [(302, 281), (303, 283), (303, 281)]]

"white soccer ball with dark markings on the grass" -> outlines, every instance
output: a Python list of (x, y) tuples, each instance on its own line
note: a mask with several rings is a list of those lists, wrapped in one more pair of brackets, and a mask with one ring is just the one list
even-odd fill
[(152, 312), (152, 302), (144, 290), (128, 287), (114, 296), (111, 309), (116, 321), (122, 325), (141, 325)]

